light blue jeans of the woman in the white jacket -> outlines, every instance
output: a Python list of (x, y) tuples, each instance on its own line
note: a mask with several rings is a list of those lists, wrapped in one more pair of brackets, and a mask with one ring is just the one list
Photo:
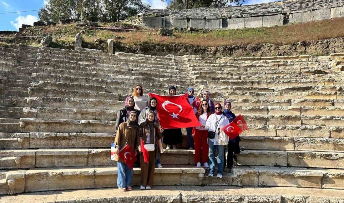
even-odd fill
[(214, 174), (215, 170), (215, 150), (217, 150), (217, 174), (223, 174), (223, 161), (224, 161), (224, 152), (225, 145), (214, 145), (214, 142), (208, 139), (209, 145), (209, 173)]

